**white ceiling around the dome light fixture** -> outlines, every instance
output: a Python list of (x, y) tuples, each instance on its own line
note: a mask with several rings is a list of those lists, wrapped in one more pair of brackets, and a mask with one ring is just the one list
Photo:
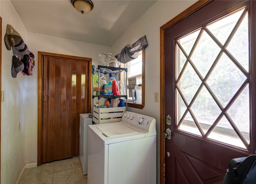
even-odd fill
[(70, 0), (11, 0), (30, 32), (111, 46), (156, 0), (92, 0), (80, 14)]

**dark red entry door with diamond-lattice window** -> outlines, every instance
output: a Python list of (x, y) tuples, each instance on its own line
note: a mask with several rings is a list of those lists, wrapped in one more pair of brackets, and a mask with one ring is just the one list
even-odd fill
[(221, 184), (255, 154), (253, 4), (212, 1), (164, 31), (166, 184)]

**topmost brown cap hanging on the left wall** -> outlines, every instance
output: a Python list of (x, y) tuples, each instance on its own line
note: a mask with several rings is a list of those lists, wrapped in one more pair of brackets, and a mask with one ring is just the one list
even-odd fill
[(6, 48), (10, 51), (12, 46), (20, 43), (20, 39), (20, 34), (10, 24), (7, 24), (6, 33), (4, 35), (4, 43)]

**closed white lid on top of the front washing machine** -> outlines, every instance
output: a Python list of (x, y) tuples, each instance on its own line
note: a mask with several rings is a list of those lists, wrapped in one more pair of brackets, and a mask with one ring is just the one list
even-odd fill
[(116, 137), (120, 135), (131, 135), (134, 133), (138, 133), (137, 130), (127, 127), (123, 124), (106, 124), (97, 126), (97, 129), (99, 129), (102, 134), (106, 135), (107, 137)]

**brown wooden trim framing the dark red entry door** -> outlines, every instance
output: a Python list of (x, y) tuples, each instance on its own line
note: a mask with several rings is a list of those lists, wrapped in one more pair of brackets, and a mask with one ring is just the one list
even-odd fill
[(165, 107), (165, 102), (164, 102), (164, 32), (166, 29), (174, 25), (175, 23), (179, 22), (180, 20), (186, 18), (196, 10), (202, 8), (212, 0), (200, 0), (178, 14), (176, 17), (174, 17), (172, 20), (169, 22), (165, 23), (160, 27), (160, 183), (164, 184), (165, 183), (165, 173), (164, 173), (164, 136), (162, 134), (165, 132), (164, 131), (164, 122), (165, 122), (165, 114), (164, 114), (164, 107)]

